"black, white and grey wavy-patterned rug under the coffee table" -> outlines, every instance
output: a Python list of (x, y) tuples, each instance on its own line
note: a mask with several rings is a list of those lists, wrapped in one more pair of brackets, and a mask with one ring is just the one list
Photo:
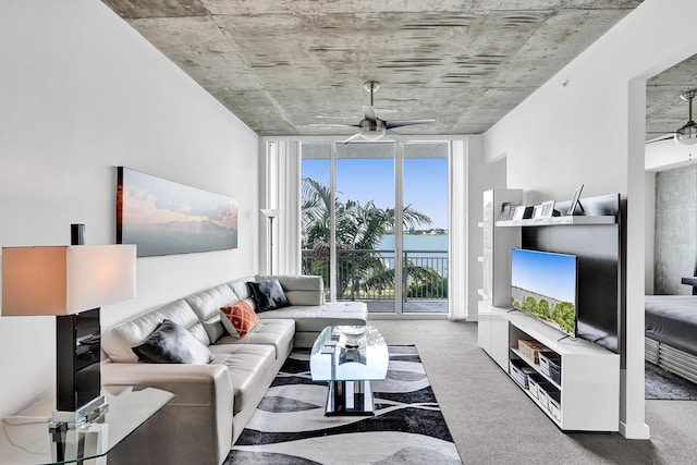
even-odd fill
[(462, 464), (415, 346), (390, 345), (376, 415), (325, 416), (327, 383), (294, 352), (230, 451), (230, 464)]

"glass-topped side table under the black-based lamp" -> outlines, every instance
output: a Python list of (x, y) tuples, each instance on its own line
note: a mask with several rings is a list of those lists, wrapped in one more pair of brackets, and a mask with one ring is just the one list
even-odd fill
[(167, 405), (174, 394), (154, 388), (110, 387), (102, 393), (108, 409), (77, 428), (51, 425), (53, 397), (0, 423), (0, 464), (64, 464), (106, 455)]

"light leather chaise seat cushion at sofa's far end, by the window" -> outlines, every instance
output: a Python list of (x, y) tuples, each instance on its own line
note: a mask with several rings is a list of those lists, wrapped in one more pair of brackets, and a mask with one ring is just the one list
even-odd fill
[(363, 302), (337, 302), (325, 305), (292, 306), (259, 314), (266, 319), (292, 318), (296, 332), (319, 332), (328, 326), (362, 326), (368, 319), (368, 307)]

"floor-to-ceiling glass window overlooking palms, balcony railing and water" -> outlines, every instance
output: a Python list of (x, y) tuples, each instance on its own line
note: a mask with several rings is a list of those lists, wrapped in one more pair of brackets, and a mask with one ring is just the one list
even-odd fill
[[(303, 143), (303, 272), (380, 314), (448, 313), (447, 142)], [(395, 228), (401, 224), (401, 228)]]

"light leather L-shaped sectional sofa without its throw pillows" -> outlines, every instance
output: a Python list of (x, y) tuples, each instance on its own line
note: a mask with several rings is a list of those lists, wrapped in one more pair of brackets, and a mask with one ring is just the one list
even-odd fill
[[(248, 281), (277, 279), (289, 307), (257, 314), (244, 338), (230, 335), (220, 308), (249, 299)], [(133, 351), (166, 319), (208, 346), (205, 365), (143, 363)], [(185, 296), (102, 334), (102, 384), (152, 387), (175, 394), (112, 453), (110, 464), (220, 464), (293, 347), (311, 347), (330, 325), (365, 325), (364, 303), (325, 303), (321, 277), (249, 277)], [(198, 344), (198, 343), (196, 343)]]

